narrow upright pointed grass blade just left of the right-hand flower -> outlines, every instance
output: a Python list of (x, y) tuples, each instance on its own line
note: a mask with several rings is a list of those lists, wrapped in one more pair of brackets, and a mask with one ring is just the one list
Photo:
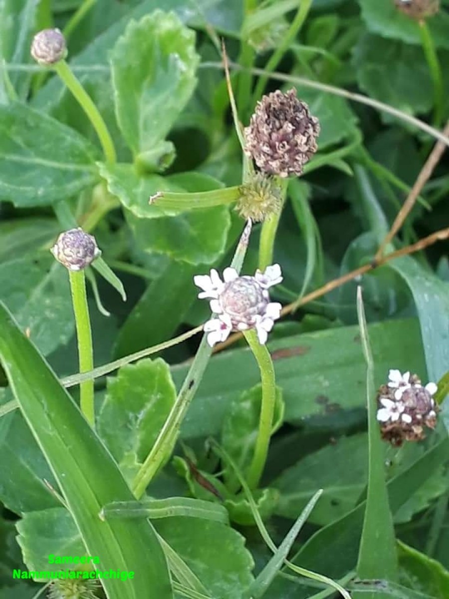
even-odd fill
[[(390, 511), (384, 470), (384, 446), (377, 421), (374, 359), (368, 337), (362, 288), (357, 289), (357, 315), (366, 361), (366, 405), (368, 409), (368, 489), (360, 539), (357, 576), (360, 579), (395, 580), (398, 573), (395, 530)], [(358, 594), (357, 594), (358, 597)]]

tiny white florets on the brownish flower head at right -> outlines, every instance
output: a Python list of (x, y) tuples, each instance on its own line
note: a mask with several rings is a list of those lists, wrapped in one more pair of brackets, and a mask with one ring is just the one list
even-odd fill
[[(399, 370), (390, 370), (389, 372), (389, 383), (387, 385), (390, 389), (394, 389), (393, 397), (394, 400), (389, 397), (380, 397), (379, 401), (383, 407), (377, 410), (377, 419), (379, 422), (396, 422), (402, 420), (406, 424), (412, 422), (412, 417), (406, 413), (406, 404), (402, 400), (402, 396), (407, 389), (411, 389), (412, 386), (422, 388), (420, 383), (411, 382), (410, 373), (406, 372), (401, 374)], [(437, 390), (435, 383), (427, 383), (424, 389), (430, 394), (434, 395)], [(432, 399), (433, 402), (433, 399)], [(428, 416), (433, 417), (436, 413), (434, 411), (429, 412)]]

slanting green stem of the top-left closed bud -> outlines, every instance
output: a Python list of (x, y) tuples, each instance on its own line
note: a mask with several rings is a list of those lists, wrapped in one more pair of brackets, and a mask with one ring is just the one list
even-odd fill
[(86, 113), (86, 116), (92, 123), (92, 126), (100, 140), (106, 161), (110, 163), (116, 162), (116, 149), (114, 148), (113, 140), (103, 120), (103, 117), (99, 113), (96, 105), (93, 103), (92, 98), (90, 98), (80, 81), (78, 81), (78, 79), (72, 73), (65, 60), (61, 60), (60, 62), (56, 63), (56, 65), (54, 65), (54, 69), (62, 79), (63, 83), (65, 83), (68, 89), (75, 96), (81, 108), (83, 108), (84, 113)]

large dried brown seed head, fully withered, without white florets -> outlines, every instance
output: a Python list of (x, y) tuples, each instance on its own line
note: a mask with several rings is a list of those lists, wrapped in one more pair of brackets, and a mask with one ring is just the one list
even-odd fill
[(245, 128), (245, 153), (264, 173), (289, 177), (301, 175), (317, 151), (318, 119), (308, 105), (296, 98), (296, 89), (280, 90), (257, 102)]

